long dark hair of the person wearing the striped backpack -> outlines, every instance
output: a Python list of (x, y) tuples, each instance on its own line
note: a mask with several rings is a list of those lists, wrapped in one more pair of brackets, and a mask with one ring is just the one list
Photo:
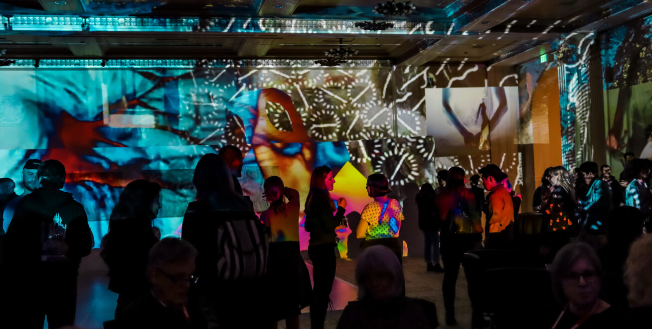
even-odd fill
[(197, 190), (197, 201), (208, 201), (215, 210), (249, 210), (250, 203), (233, 188), (233, 177), (228, 165), (215, 153), (201, 157), (195, 167), (192, 184)]

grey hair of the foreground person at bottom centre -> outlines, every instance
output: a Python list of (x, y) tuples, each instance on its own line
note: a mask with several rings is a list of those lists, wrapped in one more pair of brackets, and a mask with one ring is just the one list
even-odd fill
[(385, 246), (372, 246), (363, 251), (355, 266), (355, 281), (358, 285), (358, 299), (370, 298), (366, 290), (366, 281), (373, 271), (387, 272), (392, 277), (390, 293), (399, 296), (405, 282), (403, 267), (396, 254)]

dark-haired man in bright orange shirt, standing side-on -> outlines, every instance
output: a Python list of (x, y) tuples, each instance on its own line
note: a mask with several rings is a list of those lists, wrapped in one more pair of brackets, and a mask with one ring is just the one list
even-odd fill
[(503, 186), (507, 174), (495, 164), (488, 164), (480, 169), (482, 184), (489, 192), (486, 195), (482, 211), (486, 214), (484, 227), (484, 248), (509, 249), (514, 239), (514, 205), (512, 195)]

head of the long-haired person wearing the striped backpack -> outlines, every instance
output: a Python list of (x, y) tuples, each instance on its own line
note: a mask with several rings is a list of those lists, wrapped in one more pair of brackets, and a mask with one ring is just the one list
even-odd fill
[(211, 192), (222, 191), (234, 194), (233, 178), (228, 165), (215, 153), (205, 154), (195, 167), (192, 184), (197, 190), (197, 199), (205, 199)]

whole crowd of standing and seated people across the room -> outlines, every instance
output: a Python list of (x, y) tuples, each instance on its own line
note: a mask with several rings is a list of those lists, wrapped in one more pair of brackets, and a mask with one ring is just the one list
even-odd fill
[[(625, 160), (619, 181), (608, 165), (599, 175), (594, 162), (573, 174), (550, 167), (535, 192), (533, 209), (544, 218), (539, 256), (562, 306), (557, 317), (541, 315), (542, 323), (550, 317), (552, 328), (650, 324), (652, 236), (644, 233), (652, 212), (652, 161)], [(100, 248), (108, 289), (118, 294), (115, 319), (105, 328), (276, 328), (278, 321), (299, 328), (301, 309), (308, 306), (311, 327), (324, 327), (336, 273), (336, 231), (348, 225), (346, 199), (331, 197), (333, 171), (325, 165), (314, 169), (303, 205), (311, 285), (299, 248), (298, 186), (268, 177), (263, 189), (270, 207), (257, 215), (238, 180), (242, 169), (243, 154), (231, 145), (200, 159), (181, 238), (161, 238), (153, 225), (162, 206), (158, 183), (139, 179), (124, 188)], [(445, 322), (456, 325), (460, 266), (471, 271), (467, 253), (519, 248), (520, 197), (507, 174), (486, 165), (471, 176), (470, 188), (467, 174), (460, 167), (439, 171), (437, 188), (421, 187), (414, 219), (406, 219), (400, 202), (388, 196), (385, 175), (369, 175), (371, 201), (355, 229), (363, 250), (355, 270), (359, 297), (344, 309), (338, 328), (438, 325), (432, 302), (406, 296), (399, 240), (404, 220), (419, 222), (426, 270), (443, 272)], [(0, 279), (10, 283), (3, 284), (0, 298), (3, 322), (42, 328), (47, 317), (50, 328), (72, 326), (78, 268), (95, 245), (85, 210), (62, 191), (61, 162), (29, 160), (22, 178), (22, 195), (14, 193), (13, 180), (0, 179)], [(607, 280), (623, 289), (601, 292)], [(468, 287), (472, 297), (476, 287), (471, 281)], [(488, 323), (474, 300), (471, 326), (483, 328)]]

